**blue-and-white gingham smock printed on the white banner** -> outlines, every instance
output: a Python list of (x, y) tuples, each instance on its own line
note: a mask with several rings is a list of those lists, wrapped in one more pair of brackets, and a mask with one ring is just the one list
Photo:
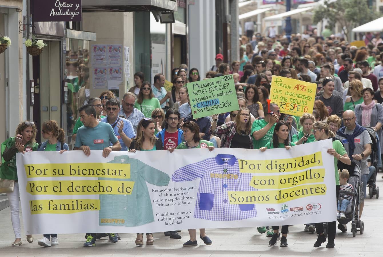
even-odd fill
[(257, 216), (253, 203), (231, 204), (229, 191), (256, 191), (250, 186), (251, 173), (239, 171), (234, 155), (217, 155), (177, 169), (172, 181), (185, 182), (200, 178), (194, 218), (204, 220), (243, 220)]

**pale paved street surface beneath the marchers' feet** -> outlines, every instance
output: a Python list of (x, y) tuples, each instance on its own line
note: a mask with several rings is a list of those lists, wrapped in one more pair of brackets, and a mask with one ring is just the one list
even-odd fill
[[(383, 179), (378, 174), (378, 186), (383, 189)], [(122, 240), (116, 244), (109, 243), (106, 239), (97, 240), (97, 246), (84, 248), (83, 234), (59, 234), (59, 246), (44, 248), (38, 246), (37, 241), (41, 235), (35, 235), (32, 244), (23, 237), (23, 245), (11, 247), (14, 240), (10, 220), (10, 208), (0, 211), (0, 256), (383, 256), (383, 221), (381, 213), (383, 205), (381, 198), (365, 200), (363, 212), (364, 234), (359, 233), (355, 238), (349, 231), (342, 233), (337, 230), (334, 249), (324, 247), (313, 248), (316, 234), (303, 232), (303, 225), (290, 226), (287, 237), (288, 247), (268, 246), (269, 237), (257, 233), (255, 228), (209, 229), (208, 235), (213, 241), (211, 246), (203, 245), (198, 239), (199, 246), (182, 247), (183, 242), (189, 239), (187, 231), (182, 231), (182, 239), (170, 239), (163, 233), (154, 234), (154, 245), (136, 247), (135, 234), (120, 234)], [(21, 227), (21, 231), (24, 228)], [(22, 233), (23, 234), (23, 233)], [(202, 244), (201, 244), (202, 243)]]

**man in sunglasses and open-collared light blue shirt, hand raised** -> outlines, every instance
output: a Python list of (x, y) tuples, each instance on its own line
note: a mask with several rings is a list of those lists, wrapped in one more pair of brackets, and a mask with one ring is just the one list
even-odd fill
[(106, 114), (108, 116), (101, 118), (102, 122), (107, 122), (112, 126), (116, 137), (121, 145), (121, 151), (128, 151), (132, 139), (136, 137), (132, 123), (118, 116), (120, 110), (119, 101), (116, 98), (110, 98), (106, 101)]

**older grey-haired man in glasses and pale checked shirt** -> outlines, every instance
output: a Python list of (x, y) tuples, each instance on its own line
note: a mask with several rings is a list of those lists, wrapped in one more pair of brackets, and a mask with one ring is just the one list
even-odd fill
[(121, 106), (118, 111), (118, 116), (124, 117), (129, 120), (134, 129), (134, 133), (137, 133), (137, 126), (140, 120), (145, 118), (145, 115), (137, 108), (134, 107), (136, 103), (136, 95), (134, 93), (125, 93), (121, 99)]

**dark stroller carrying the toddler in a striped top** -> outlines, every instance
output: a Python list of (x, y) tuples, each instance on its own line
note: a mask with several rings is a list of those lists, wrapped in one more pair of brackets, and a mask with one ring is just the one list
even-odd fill
[(362, 197), (362, 181), (361, 181), (362, 171), (358, 164), (355, 164), (354, 172), (350, 172), (349, 183), (354, 187), (354, 192), (347, 190), (340, 190), (339, 196), (352, 195), (352, 202), (347, 206), (345, 219), (338, 219), (339, 224), (347, 224), (351, 221), (351, 232), (352, 236), (355, 237), (357, 234), (357, 229), (360, 229), (360, 234), (363, 234), (364, 224), (363, 221), (359, 220), (359, 210), (360, 210), (360, 200), (363, 200)]

